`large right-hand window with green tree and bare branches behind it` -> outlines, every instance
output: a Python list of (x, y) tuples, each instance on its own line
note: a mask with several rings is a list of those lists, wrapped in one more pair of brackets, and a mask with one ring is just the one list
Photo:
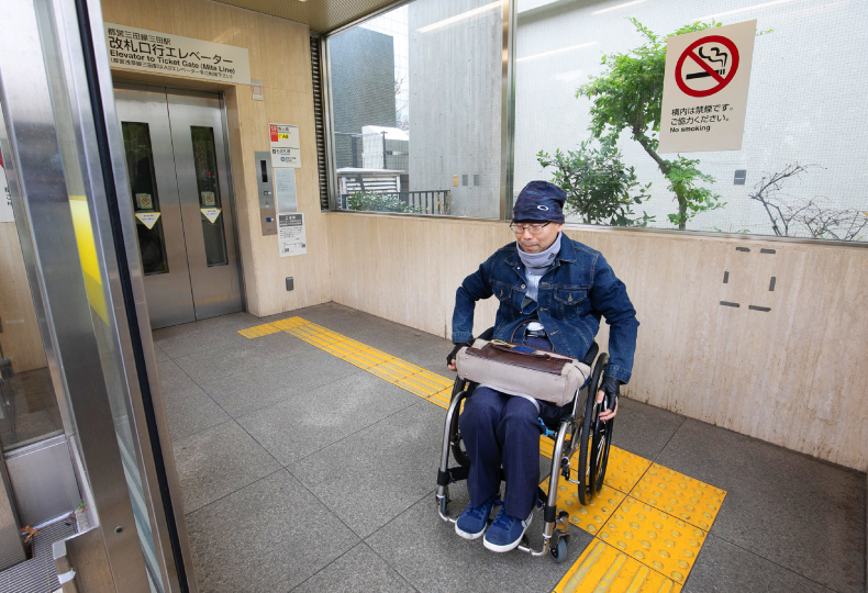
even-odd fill
[[(868, 239), (868, 142), (854, 109), (868, 89), (854, 75), (868, 66), (868, 3), (516, 0), (516, 192), (532, 179), (566, 184), (572, 222)], [(742, 148), (660, 154), (666, 37), (754, 19)]]

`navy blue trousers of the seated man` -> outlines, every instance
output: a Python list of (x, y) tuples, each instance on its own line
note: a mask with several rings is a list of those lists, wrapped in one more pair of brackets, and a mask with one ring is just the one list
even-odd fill
[[(527, 346), (550, 350), (545, 338), (528, 337)], [(507, 481), (503, 506), (508, 515), (527, 518), (536, 504), (539, 485), (538, 417), (544, 421), (560, 417), (561, 409), (536, 401), (509, 395), (478, 387), (464, 404), (458, 418), (461, 438), (470, 458), (467, 490), (474, 506), (500, 492), (500, 468)], [(569, 405), (569, 404), (568, 404)]]

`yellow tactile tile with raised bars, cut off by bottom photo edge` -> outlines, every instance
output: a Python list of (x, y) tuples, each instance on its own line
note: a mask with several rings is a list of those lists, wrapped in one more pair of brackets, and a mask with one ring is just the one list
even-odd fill
[(555, 588), (556, 593), (586, 591), (679, 593), (681, 585), (596, 539)]

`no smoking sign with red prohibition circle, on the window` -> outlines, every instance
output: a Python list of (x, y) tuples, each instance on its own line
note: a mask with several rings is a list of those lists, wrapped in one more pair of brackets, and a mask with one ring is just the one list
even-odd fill
[(741, 150), (756, 21), (669, 37), (660, 153)]

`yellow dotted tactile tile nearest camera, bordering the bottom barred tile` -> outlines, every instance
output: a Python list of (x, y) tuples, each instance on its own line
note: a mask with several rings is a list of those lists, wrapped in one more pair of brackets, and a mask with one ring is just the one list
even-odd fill
[(599, 537), (643, 564), (683, 584), (708, 534), (627, 497)]

